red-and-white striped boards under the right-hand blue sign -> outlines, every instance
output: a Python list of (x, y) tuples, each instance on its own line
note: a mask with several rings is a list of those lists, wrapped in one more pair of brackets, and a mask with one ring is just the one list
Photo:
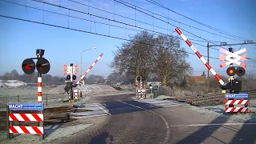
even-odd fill
[(247, 113), (247, 99), (226, 99), (224, 101), (226, 113)]

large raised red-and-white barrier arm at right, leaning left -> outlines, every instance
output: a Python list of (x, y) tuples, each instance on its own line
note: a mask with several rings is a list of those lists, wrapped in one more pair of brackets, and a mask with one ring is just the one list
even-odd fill
[(221, 85), (224, 85), (224, 82), (222, 78), (218, 76), (218, 74), (215, 72), (215, 70), (209, 65), (208, 62), (206, 62), (206, 59), (202, 57), (202, 55), (198, 52), (198, 50), (192, 45), (192, 43), (186, 38), (184, 34), (182, 34), (182, 31), (178, 29), (178, 27), (175, 29), (175, 31), (182, 37), (182, 39), (186, 42), (188, 46), (190, 46), (190, 49), (194, 51), (194, 54), (198, 56), (198, 58), (202, 61), (202, 63), (207, 67), (208, 70), (210, 70), (210, 73), (214, 75), (214, 78), (218, 80), (218, 82)]

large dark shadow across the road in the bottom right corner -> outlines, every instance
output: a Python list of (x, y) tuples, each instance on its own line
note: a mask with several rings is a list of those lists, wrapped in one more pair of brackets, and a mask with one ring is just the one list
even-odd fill
[[(231, 115), (222, 114), (218, 118), (215, 118), (210, 124), (219, 124), (225, 123), (228, 121)], [(250, 121), (246, 121), (245, 123), (249, 123)], [(236, 129), (231, 126), (222, 126), (222, 125), (211, 125), (211, 126), (202, 126), (199, 130), (195, 131), (193, 134), (190, 134), (186, 138), (177, 142), (177, 144), (186, 144), (186, 143), (202, 143), (206, 138), (214, 138), (218, 141), (218, 143), (226, 143), (223, 142), (219, 138), (215, 138), (212, 136), (214, 131), (218, 130), (220, 127), (224, 127), (228, 130), (232, 130), (233, 132), (237, 132), (234, 138), (230, 143), (238, 144), (238, 143), (248, 143), (254, 144), (256, 143), (256, 132), (255, 126), (252, 125), (243, 125), (241, 129)]]

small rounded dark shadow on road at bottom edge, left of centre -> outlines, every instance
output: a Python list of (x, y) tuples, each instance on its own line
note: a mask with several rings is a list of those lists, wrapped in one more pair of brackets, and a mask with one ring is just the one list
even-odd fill
[(88, 144), (106, 144), (109, 138), (110, 142), (113, 142), (113, 136), (108, 134), (107, 132), (102, 132), (101, 134), (95, 135), (94, 138), (90, 139)]

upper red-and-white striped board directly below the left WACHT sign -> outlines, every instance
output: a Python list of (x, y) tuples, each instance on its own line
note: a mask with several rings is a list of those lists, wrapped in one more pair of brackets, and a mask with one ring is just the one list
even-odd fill
[(43, 114), (9, 114), (9, 121), (42, 122)]

